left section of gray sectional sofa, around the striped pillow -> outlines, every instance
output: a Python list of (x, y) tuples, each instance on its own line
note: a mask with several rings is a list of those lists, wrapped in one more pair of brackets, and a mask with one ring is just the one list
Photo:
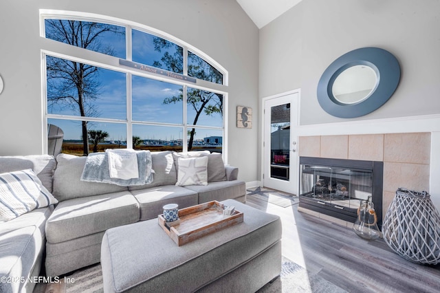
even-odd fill
[[(50, 155), (0, 157), (0, 173), (32, 169), (52, 192), (55, 160)], [(45, 252), (45, 226), (54, 206), (36, 208), (10, 221), (0, 222), (0, 292), (32, 292)]]

